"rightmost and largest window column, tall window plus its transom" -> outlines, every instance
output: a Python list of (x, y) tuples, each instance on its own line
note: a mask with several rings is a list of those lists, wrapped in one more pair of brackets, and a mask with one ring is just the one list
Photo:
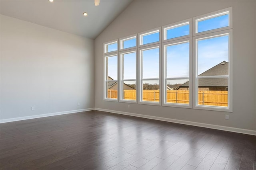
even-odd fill
[(232, 111), (230, 8), (195, 18), (195, 108)]

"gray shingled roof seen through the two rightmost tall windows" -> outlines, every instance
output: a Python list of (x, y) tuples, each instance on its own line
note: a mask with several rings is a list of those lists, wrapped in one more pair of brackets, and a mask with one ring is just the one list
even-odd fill
[[(223, 76), (228, 75), (228, 62), (223, 61), (216, 66), (206, 70), (199, 76)], [(185, 82), (184, 84), (180, 85), (180, 87), (188, 87), (189, 82)], [(228, 78), (204, 78), (198, 79), (198, 86), (199, 87), (220, 87), (228, 86)], [(178, 89), (178, 88), (177, 88)]]

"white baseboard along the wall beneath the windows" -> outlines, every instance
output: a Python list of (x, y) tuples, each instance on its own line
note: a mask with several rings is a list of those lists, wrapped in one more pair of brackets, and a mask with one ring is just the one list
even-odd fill
[(249, 130), (249, 129), (240, 129), (240, 128), (236, 128), (236, 127), (212, 125), (212, 124), (207, 124), (207, 123), (198, 123), (198, 122), (193, 122), (193, 121), (184, 121), (184, 120), (170, 119), (170, 118), (164, 118), (164, 117), (141, 115), (141, 114), (137, 114), (137, 113), (129, 113), (129, 112), (124, 112), (124, 111), (116, 111), (116, 110), (108, 110), (108, 109), (100, 109), (100, 108), (95, 108), (95, 110), (106, 111), (106, 112), (110, 112), (110, 113), (117, 113), (117, 114), (122, 114), (122, 115), (130, 115), (130, 116), (135, 116), (135, 117), (143, 117), (143, 118), (147, 118), (147, 119), (154, 119), (154, 120), (160, 120), (160, 121), (168, 121), (168, 122), (172, 122), (172, 123), (180, 123), (180, 124), (184, 124), (184, 125), (206, 127), (206, 128), (218, 129), (218, 130), (222, 130), (222, 131), (230, 131), (230, 132), (243, 133), (243, 134), (248, 134), (248, 135), (256, 135), (256, 131)]

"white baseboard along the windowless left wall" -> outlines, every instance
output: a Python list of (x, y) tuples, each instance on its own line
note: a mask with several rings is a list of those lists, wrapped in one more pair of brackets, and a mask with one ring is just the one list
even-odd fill
[(78, 113), (78, 112), (91, 111), (91, 110), (94, 110), (94, 108), (61, 111), (61, 112), (56, 112), (56, 113), (46, 113), (46, 114), (41, 114), (41, 115), (32, 115), (32, 116), (24, 116), (24, 117), (16, 117), (16, 118), (11, 118), (11, 119), (2, 119), (2, 120), (0, 120), (0, 123), (7, 123), (7, 122), (12, 122), (12, 121), (20, 121), (20, 120), (27, 120), (27, 119), (35, 119), (35, 118), (40, 118), (40, 117), (64, 115), (64, 114)]

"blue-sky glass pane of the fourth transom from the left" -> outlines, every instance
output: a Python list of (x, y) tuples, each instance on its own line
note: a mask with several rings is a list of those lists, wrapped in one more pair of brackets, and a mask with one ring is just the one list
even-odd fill
[(166, 30), (166, 39), (172, 39), (176, 37), (182, 37), (189, 35), (189, 24), (180, 27), (174, 27)]

